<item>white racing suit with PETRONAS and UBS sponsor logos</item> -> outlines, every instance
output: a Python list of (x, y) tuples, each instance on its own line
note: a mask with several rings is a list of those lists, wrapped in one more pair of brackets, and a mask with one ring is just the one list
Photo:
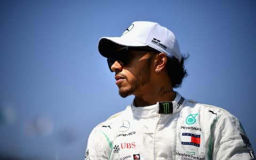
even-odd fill
[(254, 159), (239, 120), (228, 111), (186, 100), (127, 106), (91, 132), (85, 159)]

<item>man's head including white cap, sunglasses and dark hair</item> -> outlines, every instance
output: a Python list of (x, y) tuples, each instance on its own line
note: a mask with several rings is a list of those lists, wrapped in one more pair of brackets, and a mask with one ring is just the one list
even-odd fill
[(177, 39), (155, 22), (133, 22), (121, 37), (102, 37), (99, 52), (107, 58), (109, 69), (116, 73), (122, 97), (148, 92), (163, 79), (157, 74), (162, 73), (173, 87), (178, 87), (186, 76)]

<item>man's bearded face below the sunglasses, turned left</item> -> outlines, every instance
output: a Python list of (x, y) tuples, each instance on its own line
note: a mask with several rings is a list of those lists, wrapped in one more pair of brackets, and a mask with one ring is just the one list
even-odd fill
[(139, 92), (142, 86), (150, 81), (151, 58), (150, 52), (130, 51), (130, 61), (127, 64), (117, 62), (111, 66), (116, 75), (116, 85), (119, 88), (119, 94), (125, 98), (128, 95)]

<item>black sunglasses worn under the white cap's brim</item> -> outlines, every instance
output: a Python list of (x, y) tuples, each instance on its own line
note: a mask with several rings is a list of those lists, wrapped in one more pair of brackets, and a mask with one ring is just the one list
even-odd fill
[(119, 49), (118, 51), (115, 51), (110, 55), (110, 57), (107, 59), (108, 61), (108, 67), (111, 72), (111, 66), (117, 61), (122, 66), (127, 65), (133, 58), (132, 54), (129, 53), (130, 51), (147, 51), (147, 52), (156, 52), (160, 53), (160, 51), (157, 51), (149, 46), (142, 46), (142, 47), (123, 47), (122, 49)]

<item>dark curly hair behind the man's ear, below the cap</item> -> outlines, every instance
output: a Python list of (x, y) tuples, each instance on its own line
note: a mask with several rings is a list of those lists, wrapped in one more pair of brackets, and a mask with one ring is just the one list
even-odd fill
[(184, 77), (188, 75), (187, 70), (184, 66), (184, 61), (188, 58), (182, 57), (181, 61), (175, 57), (167, 57), (166, 69), (167, 73), (171, 79), (171, 85), (174, 88), (179, 87), (182, 84), (182, 80)]

